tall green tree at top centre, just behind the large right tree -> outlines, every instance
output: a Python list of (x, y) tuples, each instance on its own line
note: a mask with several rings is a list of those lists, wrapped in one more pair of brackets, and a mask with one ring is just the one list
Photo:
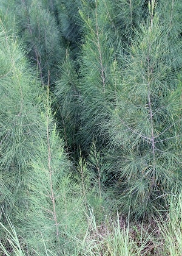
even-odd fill
[[(115, 63), (123, 61), (133, 29), (145, 16), (144, 1), (95, 1), (90, 15), (84, 10), (82, 18), (83, 45), (79, 55), (82, 99), (80, 142), (84, 151), (93, 138), (107, 144), (109, 138), (101, 124), (107, 121), (109, 106), (115, 102), (117, 84)], [(123, 67), (124, 62), (123, 62)]]

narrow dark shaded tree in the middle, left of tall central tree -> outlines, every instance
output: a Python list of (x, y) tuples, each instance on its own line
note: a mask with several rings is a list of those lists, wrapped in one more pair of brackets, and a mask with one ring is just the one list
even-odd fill
[(78, 74), (76, 74), (75, 62), (70, 59), (69, 52), (66, 59), (59, 66), (59, 79), (55, 86), (57, 118), (61, 126), (62, 137), (66, 141), (67, 151), (72, 152), (78, 148), (76, 132), (79, 129), (80, 102), (78, 91)]

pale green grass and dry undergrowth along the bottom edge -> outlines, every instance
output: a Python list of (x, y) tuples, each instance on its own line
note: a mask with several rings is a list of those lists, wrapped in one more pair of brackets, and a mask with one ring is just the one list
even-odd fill
[[(169, 211), (160, 218), (152, 218), (148, 222), (132, 222), (129, 216), (104, 216), (102, 222), (96, 220), (93, 208), (89, 208), (88, 214), (84, 213), (86, 226), (80, 235), (70, 234), (66, 244), (62, 245), (61, 255), (181, 255), (181, 216), (182, 196), (179, 193), (171, 194), (169, 199)], [(78, 215), (83, 218), (81, 212)], [(103, 214), (100, 213), (100, 215)], [(160, 215), (160, 213), (159, 213)], [(7, 218), (7, 227), (2, 222), (1, 227), (6, 236), (1, 240), (2, 255), (32, 255), (24, 239), (18, 236), (17, 230), (10, 219)], [(101, 218), (101, 216), (100, 216)], [(70, 225), (70, 222), (69, 224)], [(69, 229), (69, 226), (67, 227)], [(44, 243), (43, 254), (33, 249), (33, 255), (58, 255), (47, 249)], [(72, 251), (70, 251), (70, 248)]]

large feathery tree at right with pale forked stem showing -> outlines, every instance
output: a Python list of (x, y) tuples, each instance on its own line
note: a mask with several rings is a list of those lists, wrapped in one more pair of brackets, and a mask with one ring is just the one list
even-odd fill
[(182, 88), (154, 1), (149, 10), (149, 20), (135, 30), (116, 104), (103, 123), (122, 209), (136, 216), (151, 213), (181, 187)]

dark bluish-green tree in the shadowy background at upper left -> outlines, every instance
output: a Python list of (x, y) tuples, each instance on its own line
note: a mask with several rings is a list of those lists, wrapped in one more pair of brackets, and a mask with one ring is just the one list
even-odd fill
[[(51, 1), (50, 1), (51, 3)], [(53, 15), (53, 2), (50, 8), (44, 1), (7, 1), (2, 3), (4, 13), (13, 12), (14, 22), (30, 60), (36, 64), (42, 84), (56, 80), (56, 65), (64, 55), (62, 38)], [(50, 71), (50, 76), (49, 76)]]

